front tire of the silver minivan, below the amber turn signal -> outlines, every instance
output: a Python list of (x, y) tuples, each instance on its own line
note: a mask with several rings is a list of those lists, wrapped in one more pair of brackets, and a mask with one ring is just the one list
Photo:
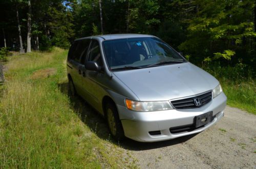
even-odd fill
[(108, 103), (105, 107), (106, 121), (108, 122), (109, 130), (113, 138), (117, 141), (123, 140), (124, 132), (119, 115), (114, 103)]

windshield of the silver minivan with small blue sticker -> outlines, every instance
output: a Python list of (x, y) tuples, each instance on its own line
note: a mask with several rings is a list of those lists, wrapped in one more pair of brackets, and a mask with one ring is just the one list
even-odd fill
[(103, 48), (112, 70), (186, 62), (170, 46), (154, 37), (106, 40)]

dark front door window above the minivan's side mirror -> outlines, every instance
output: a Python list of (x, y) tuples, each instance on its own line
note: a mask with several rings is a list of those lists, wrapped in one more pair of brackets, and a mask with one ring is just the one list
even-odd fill
[(90, 46), (90, 51), (88, 55), (88, 61), (97, 62), (98, 65), (102, 66), (102, 58), (100, 55), (99, 42), (97, 40), (92, 39), (92, 43)]

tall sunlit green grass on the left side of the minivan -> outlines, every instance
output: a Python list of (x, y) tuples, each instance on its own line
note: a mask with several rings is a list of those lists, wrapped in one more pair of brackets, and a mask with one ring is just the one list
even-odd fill
[[(67, 82), (66, 57), (67, 51), (55, 49), (14, 56), (7, 63), (7, 82), (0, 86), (0, 168), (132, 165), (116, 144), (82, 123), (67, 87), (64, 92), (59, 89)], [(48, 68), (56, 71), (41, 76)]]

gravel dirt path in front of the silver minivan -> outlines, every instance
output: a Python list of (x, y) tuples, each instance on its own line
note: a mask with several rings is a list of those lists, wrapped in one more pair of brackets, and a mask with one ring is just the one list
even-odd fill
[(121, 146), (141, 168), (256, 168), (256, 115), (226, 107), (219, 123), (197, 135)]

